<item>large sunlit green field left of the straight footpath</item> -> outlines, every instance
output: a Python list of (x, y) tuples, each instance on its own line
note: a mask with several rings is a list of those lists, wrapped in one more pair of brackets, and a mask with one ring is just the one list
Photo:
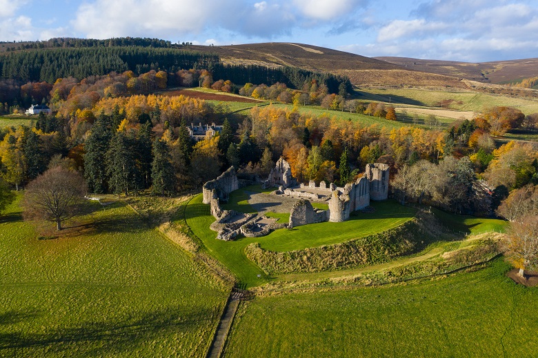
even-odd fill
[(0, 217), (0, 356), (205, 356), (225, 288), (121, 201), (88, 205), (48, 239)]

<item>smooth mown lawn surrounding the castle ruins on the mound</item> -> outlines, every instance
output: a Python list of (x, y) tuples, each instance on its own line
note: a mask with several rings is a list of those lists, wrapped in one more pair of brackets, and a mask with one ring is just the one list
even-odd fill
[[(399, 206), (392, 201), (372, 203), (376, 212), (352, 216), (343, 223), (318, 223), (299, 226), (293, 230), (275, 230), (266, 237), (237, 239), (235, 241), (217, 240), (217, 232), (210, 230), (215, 219), (210, 215), (209, 206), (202, 203), (202, 196), (197, 195), (186, 208), (188, 226), (203, 242), (210, 255), (224, 263), (238, 277), (241, 284), (248, 287), (259, 286), (270, 280), (270, 277), (252, 261), (244, 252), (248, 244), (258, 242), (262, 248), (276, 251), (299, 250), (338, 243), (381, 232), (399, 226), (415, 214), (415, 209)], [(246, 202), (243, 190), (230, 195), (230, 203), (226, 208), (235, 208), (243, 212), (254, 212)], [(273, 214), (279, 219), (287, 219), (288, 215)], [(257, 277), (260, 275), (260, 277)]]

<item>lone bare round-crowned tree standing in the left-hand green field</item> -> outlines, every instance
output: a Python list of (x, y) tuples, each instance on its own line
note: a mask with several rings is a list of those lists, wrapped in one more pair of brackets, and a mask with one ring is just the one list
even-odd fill
[(61, 166), (51, 168), (26, 187), (25, 215), (53, 221), (61, 230), (61, 222), (77, 214), (85, 192), (86, 182), (78, 172)]

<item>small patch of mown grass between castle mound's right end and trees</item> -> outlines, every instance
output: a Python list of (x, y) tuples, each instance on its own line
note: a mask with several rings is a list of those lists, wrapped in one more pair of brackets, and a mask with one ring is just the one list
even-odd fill
[(441, 223), (455, 232), (480, 234), (482, 232), (505, 232), (510, 223), (499, 219), (453, 215), (446, 211), (432, 208)]

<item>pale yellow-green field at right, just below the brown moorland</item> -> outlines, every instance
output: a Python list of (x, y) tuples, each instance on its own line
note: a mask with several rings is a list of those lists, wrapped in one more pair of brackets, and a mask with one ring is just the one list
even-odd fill
[(360, 99), (372, 101), (392, 101), (415, 106), (440, 107), (440, 101), (452, 100), (448, 108), (481, 112), (484, 108), (494, 106), (515, 107), (526, 115), (538, 112), (538, 101), (506, 97), (501, 95), (489, 95), (481, 92), (461, 91), (448, 92), (441, 90), (420, 90), (416, 88), (389, 88), (368, 89), (357, 91)]

